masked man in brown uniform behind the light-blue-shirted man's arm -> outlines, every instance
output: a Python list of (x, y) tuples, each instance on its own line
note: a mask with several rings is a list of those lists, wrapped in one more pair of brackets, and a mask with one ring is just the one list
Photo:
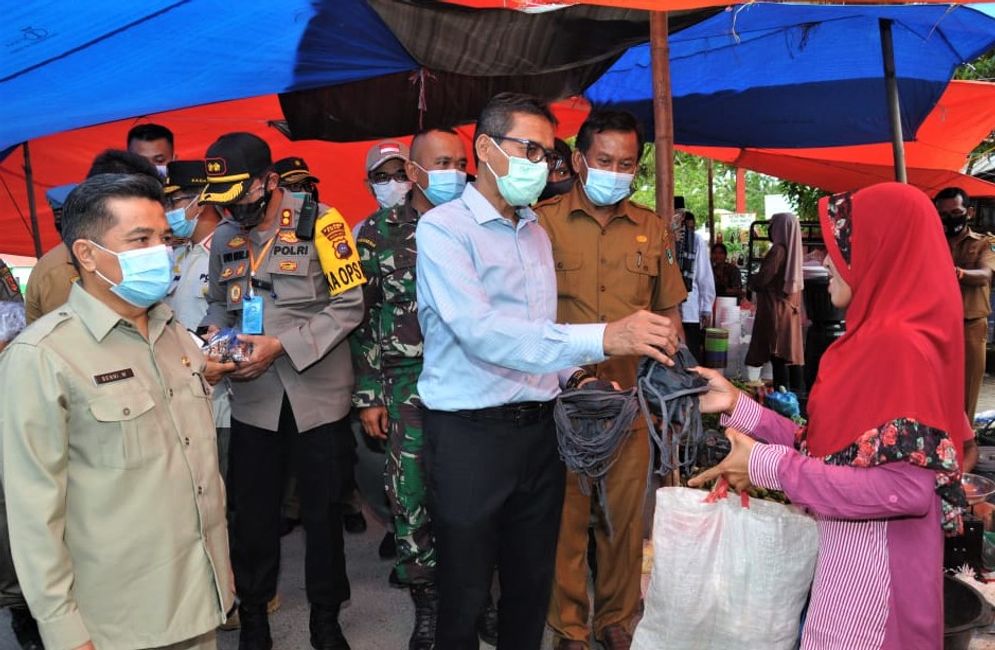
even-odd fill
[[(553, 244), (559, 322), (604, 323), (639, 309), (669, 316), (675, 327), (681, 322), (678, 308), (687, 291), (674, 260), (669, 224), (628, 200), (641, 151), (632, 115), (592, 113), (577, 136), (573, 189), (536, 207)], [(636, 357), (612, 357), (588, 370), (630, 388), (637, 362)], [(594, 530), (594, 633), (610, 650), (629, 647), (630, 626), (639, 611), (650, 459), (646, 425), (639, 419), (634, 426), (605, 481), (614, 536), (609, 538), (603, 525)], [(558, 648), (588, 647), (588, 527), (596, 504), (596, 498), (581, 492), (577, 476), (567, 472), (549, 607)]]

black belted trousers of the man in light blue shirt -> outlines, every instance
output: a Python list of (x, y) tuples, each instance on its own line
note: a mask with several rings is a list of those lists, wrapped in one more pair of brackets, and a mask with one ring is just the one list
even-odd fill
[(428, 506), (435, 533), (437, 650), (477, 650), (476, 620), (498, 567), (499, 650), (542, 642), (563, 507), (552, 405), (508, 421), (425, 411)]

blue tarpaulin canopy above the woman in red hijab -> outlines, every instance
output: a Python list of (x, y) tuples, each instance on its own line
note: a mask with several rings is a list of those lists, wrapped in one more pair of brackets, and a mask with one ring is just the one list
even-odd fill
[[(798, 147), (889, 139), (878, 19), (893, 22), (906, 139), (954, 68), (995, 46), (993, 5), (755, 3), (670, 37), (674, 139)], [(650, 48), (631, 48), (585, 95), (652, 124)]]

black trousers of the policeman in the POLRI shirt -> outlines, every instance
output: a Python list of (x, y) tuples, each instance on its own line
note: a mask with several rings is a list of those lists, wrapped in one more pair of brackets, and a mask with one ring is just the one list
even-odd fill
[(298, 432), (284, 397), (279, 427), (274, 432), (231, 421), (228, 490), (237, 504), (231, 526), (235, 591), (248, 606), (264, 605), (276, 595), (280, 506), (289, 467), (297, 479), (307, 540), (308, 601), (341, 604), (349, 599), (340, 503), (352, 475), (355, 440), (349, 419)]

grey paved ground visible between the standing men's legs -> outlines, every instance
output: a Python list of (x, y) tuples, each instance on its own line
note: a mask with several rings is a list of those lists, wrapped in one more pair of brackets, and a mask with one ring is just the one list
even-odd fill
[[(978, 411), (995, 408), (995, 379), (985, 378)], [(369, 528), (362, 535), (346, 535), (352, 601), (342, 612), (342, 626), (353, 650), (403, 650), (411, 631), (413, 608), (407, 592), (387, 583), (390, 563), (377, 557), (383, 527), (367, 516)], [(307, 650), (308, 609), (304, 595), (304, 538), (298, 529), (283, 540), (280, 575), (282, 607), (270, 617), (275, 650)], [(6, 612), (0, 613), (0, 650), (16, 650)], [(219, 634), (220, 650), (236, 650), (237, 632)], [(995, 635), (979, 637), (972, 650), (995, 650)], [(544, 648), (550, 647), (547, 638)], [(482, 649), (490, 646), (481, 644)]]

